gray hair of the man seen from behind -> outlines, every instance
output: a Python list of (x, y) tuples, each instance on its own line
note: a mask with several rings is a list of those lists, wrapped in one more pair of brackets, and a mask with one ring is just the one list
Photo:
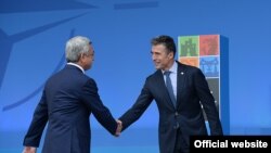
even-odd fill
[(78, 62), (81, 54), (89, 54), (89, 44), (91, 43), (87, 37), (76, 36), (70, 38), (66, 43), (67, 62)]

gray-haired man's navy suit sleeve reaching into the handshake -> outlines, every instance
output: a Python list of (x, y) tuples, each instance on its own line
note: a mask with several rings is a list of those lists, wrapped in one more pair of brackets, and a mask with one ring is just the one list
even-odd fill
[(117, 123), (109, 110), (103, 105), (98, 93), (98, 87), (93, 79), (89, 79), (82, 87), (82, 101), (93, 113), (98, 122), (112, 135), (115, 135)]

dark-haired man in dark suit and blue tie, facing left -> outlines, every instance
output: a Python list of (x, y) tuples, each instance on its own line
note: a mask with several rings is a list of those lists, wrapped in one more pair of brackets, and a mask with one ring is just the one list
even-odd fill
[(221, 123), (204, 74), (175, 61), (176, 46), (169, 36), (152, 40), (156, 72), (149, 76), (137, 102), (119, 120), (122, 130), (144, 113), (153, 100), (159, 111), (160, 153), (188, 153), (190, 136), (207, 135), (202, 105), (211, 135), (222, 135)]

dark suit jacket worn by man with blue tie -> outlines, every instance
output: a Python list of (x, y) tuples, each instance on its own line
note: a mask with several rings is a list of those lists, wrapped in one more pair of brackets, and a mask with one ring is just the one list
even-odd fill
[(178, 62), (177, 107), (167, 92), (162, 71), (149, 76), (137, 102), (119, 118), (124, 129), (136, 122), (153, 100), (159, 111), (160, 153), (173, 153), (178, 128), (186, 143), (184, 145), (189, 145), (189, 137), (192, 135), (207, 135), (201, 103), (207, 114), (210, 133), (222, 135), (214, 97), (199, 68)]

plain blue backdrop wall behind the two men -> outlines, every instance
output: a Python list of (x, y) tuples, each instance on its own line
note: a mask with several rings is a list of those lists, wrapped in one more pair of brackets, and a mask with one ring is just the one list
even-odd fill
[[(267, 0), (1, 0), (0, 152), (22, 151), (43, 84), (64, 66), (65, 42), (75, 35), (92, 39), (87, 74), (116, 117), (155, 71), (151, 38), (228, 37), (231, 135), (270, 135), (270, 8)], [(158, 152), (157, 124), (155, 103), (118, 139), (92, 116), (92, 151)]]

